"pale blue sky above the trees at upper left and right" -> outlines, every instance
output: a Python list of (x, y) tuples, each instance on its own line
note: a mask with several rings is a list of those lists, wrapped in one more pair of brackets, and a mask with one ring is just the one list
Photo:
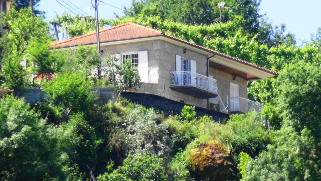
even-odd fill
[[(94, 9), (88, 11), (88, 7), (91, 7), (90, 0), (58, 0), (65, 5), (68, 9), (77, 13), (73, 5), (78, 6), (82, 11), (94, 16)], [(74, 7), (66, 5), (63, 1)], [(123, 8), (124, 5), (129, 7), (132, 0), (102, 0), (108, 4)], [(122, 11), (100, 3), (98, 6), (99, 16), (103, 18), (115, 17), (114, 13), (121, 14)], [(46, 17), (48, 20), (52, 19), (57, 14), (61, 14), (66, 11), (65, 7), (57, 3), (56, 0), (41, 0), (39, 3), (39, 9), (47, 12)], [(71, 13), (72, 14), (72, 13)], [(260, 5), (260, 14), (266, 14), (273, 25), (286, 24), (287, 32), (295, 34), (297, 42), (300, 44), (302, 41), (309, 41), (311, 33), (315, 33), (317, 28), (321, 26), (321, 0), (262, 0)]]

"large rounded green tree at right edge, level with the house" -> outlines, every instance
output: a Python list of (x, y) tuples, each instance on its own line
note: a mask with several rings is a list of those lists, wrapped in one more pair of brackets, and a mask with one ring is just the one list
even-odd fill
[(319, 63), (299, 61), (285, 67), (279, 78), (279, 110), (286, 122), (300, 132), (304, 127), (316, 140), (321, 138)]

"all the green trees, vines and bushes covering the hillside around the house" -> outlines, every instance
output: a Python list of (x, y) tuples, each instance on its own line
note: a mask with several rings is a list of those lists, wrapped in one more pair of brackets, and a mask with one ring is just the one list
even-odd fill
[[(138, 86), (133, 68), (125, 71), (131, 63), (117, 67), (124, 82), (116, 82), (116, 74), (92, 76), (96, 51), (50, 51), (53, 35), (41, 10), (35, 14), (21, 4), (0, 21), (9, 28), (0, 38), (0, 180), (321, 180), (321, 29), (297, 45), (285, 25), (272, 27), (258, 14), (259, 1), (226, 1), (221, 18), (217, 3), (133, 1), (125, 14), (101, 24), (130, 21), (173, 32), (278, 71), (277, 78), (248, 83), (249, 97), (264, 103), (270, 129), (256, 113), (218, 123), (190, 106), (165, 117), (121, 97), (97, 96), (93, 86), (119, 92)], [(57, 21), (72, 27), (72, 36), (94, 31), (79, 16), (70, 17)], [(45, 73), (56, 76), (30, 80)], [(46, 99), (25, 104), (19, 96), (29, 88), (43, 89)]]

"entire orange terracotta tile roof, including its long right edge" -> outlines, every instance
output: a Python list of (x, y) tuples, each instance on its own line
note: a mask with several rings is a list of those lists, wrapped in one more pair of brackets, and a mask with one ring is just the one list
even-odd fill
[[(134, 38), (145, 38), (145, 37), (152, 37), (152, 36), (165, 36), (167, 38), (171, 38), (174, 39), (176, 41), (180, 41), (183, 43), (186, 43), (188, 45), (197, 47), (199, 49), (203, 49), (205, 51), (208, 52), (212, 52), (214, 54), (220, 55), (222, 57), (228, 58), (228, 59), (232, 59), (235, 61), (238, 61), (240, 63), (243, 64), (247, 64), (251, 67), (255, 67), (261, 70), (264, 70), (266, 72), (272, 73), (275, 76), (279, 75), (279, 73), (274, 72), (270, 69), (264, 68), (264, 67), (260, 67), (257, 66), (253, 63), (247, 62), (245, 60), (242, 59), (238, 59), (229, 55), (226, 55), (224, 53), (218, 52), (216, 50), (212, 50), (212, 49), (208, 49), (206, 47), (197, 45), (195, 43), (191, 43), (189, 41), (185, 41), (185, 40), (180, 40), (176, 37), (173, 36), (169, 36), (169, 35), (165, 35), (163, 32), (152, 29), (152, 28), (148, 28), (139, 24), (135, 24), (135, 23), (125, 23), (125, 24), (120, 24), (117, 26), (113, 26), (110, 27), (108, 29), (105, 30), (101, 30), (100, 32), (100, 42), (108, 42), (108, 41), (117, 41), (117, 40), (126, 40), (126, 39), (134, 39)], [(72, 38), (69, 40), (65, 40), (65, 41), (60, 41), (54, 44), (51, 44), (50, 47), (51, 48), (64, 48), (64, 47), (73, 47), (73, 46), (77, 46), (77, 45), (88, 45), (88, 44), (95, 44), (97, 41), (96, 38), (96, 32), (90, 33), (90, 34), (86, 34), (86, 35), (82, 35), (76, 38)]]

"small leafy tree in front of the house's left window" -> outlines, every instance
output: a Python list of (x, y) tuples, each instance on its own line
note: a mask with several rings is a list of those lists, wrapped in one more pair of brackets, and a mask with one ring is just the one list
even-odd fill
[(132, 62), (124, 60), (120, 65), (117, 62), (120, 61), (114, 56), (110, 56), (110, 61), (107, 62), (109, 67), (108, 74), (118, 91), (116, 102), (124, 90), (141, 86), (138, 71)]

